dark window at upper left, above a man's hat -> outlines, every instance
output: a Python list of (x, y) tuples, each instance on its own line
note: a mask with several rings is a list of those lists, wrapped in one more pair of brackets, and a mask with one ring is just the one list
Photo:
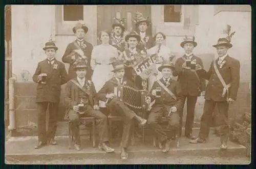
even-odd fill
[(63, 5), (63, 21), (83, 20), (83, 5)]

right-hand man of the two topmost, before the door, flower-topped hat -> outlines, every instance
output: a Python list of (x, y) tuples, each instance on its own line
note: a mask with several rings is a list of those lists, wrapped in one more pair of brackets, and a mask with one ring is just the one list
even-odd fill
[(154, 46), (154, 41), (152, 35), (149, 35), (147, 30), (151, 22), (148, 18), (143, 17), (142, 13), (137, 12), (134, 18), (135, 25), (138, 27), (138, 35), (140, 36), (140, 41), (138, 48), (146, 52), (147, 49), (150, 49)]

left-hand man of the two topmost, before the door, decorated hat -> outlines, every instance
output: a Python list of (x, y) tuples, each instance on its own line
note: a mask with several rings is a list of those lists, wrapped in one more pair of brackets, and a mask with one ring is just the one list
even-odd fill
[(115, 23), (112, 24), (112, 35), (110, 39), (110, 44), (117, 48), (119, 55), (124, 51), (126, 44), (124, 40), (126, 19), (114, 18)]

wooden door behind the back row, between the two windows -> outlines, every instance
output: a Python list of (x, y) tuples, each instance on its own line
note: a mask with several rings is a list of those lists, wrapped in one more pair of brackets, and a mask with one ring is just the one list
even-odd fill
[[(151, 18), (151, 6), (149, 5), (105, 5), (97, 7), (97, 32), (102, 30), (111, 31), (114, 17), (126, 18), (126, 29), (136, 29), (133, 17), (136, 12), (141, 12), (144, 17)], [(152, 24), (151, 24), (152, 25)], [(152, 26), (148, 27), (148, 33), (152, 34)]]

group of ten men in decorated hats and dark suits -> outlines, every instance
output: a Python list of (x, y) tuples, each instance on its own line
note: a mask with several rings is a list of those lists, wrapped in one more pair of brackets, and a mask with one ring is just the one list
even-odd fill
[[(113, 26), (114, 36), (112, 45), (116, 46), (120, 53), (120, 58), (130, 56), (130, 49), (125, 49), (123, 39), (134, 50), (146, 52), (148, 43), (153, 43), (151, 37), (145, 35), (148, 25), (147, 19), (140, 17), (137, 21), (140, 33), (131, 33), (121, 37), (124, 31), (122, 24)], [(97, 119), (99, 134), (99, 149), (105, 152), (113, 152), (109, 145), (108, 118), (100, 111), (98, 100), (106, 103), (106, 107), (116, 116), (123, 118), (123, 133), (121, 139), (121, 159), (128, 158), (127, 148), (131, 140), (131, 128), (136, 121), (138, 125), (146, 123), (157, 135), (162, 145), (162, 151), (168, 152), (169, 143), (175, 139), (176, 134), (181, 135), (182, 112), (185, 99), (187, 98), (187, 119), (185, 125), (185, 136), (192, 139), (190, 143), (205, 143), (209, 134), (212, 111), (217, 105), (219, 113), (223, 115), (223, 125), (221, 128), (221, 148), (227, 148), (228, 125), (226, 123), (228, 105), (237, 98), (237, 91), (240, 80), (240, 62), (231, 58), (227, 51), (232, 44), (231, 36), (218, 39), (214, 47), (217, 49), (219, 58), (214, 60), (208, 71), (203, 69), (202, 61), (193, 54), (194, 47), (197, 46), (195, 38), (186, 37), (181, 42), (185, 54), (179, 58), (175, 64), (164, 62), (158, 70), (162, 73), (162, 78), (155, 81), (149, 92), (146, 102), (154, 101), (152, 109), (148, 112), (146, 119), (141, 118), (135, 111), (131, 110), (124, 102), (118, 100), (114, 94), (114, 88), (118, 85), (136, 86), (145, 89), (143, 80), (134, 80), (131, 73), (122, 60), (112, 63), (114, 77), (105, 82), (102, 89), (96, 93), (94, 83), (91, 81), (92, 70), (90, 68), (90, 54), (92, 44), (84, 40), (84, 35), (88, 32), (88, 27), (77, 24), (73, 27), (77, 39), (70, 43), (63, 54), (62, 61), (69, 63), (69, 74), (65, 65), (55, 59), (57, 47), (50, 41), (43, 48), (47, 59), (38, 63), (33, 80), (38, 83), (36, 103), (38, 105), (38, 145), (35, 149), (50, 145), (56, 145), (54, 139), (57, 121), (57, 107), (60, 97), (60, 86), (66, 84), (65, 103), (67, 112), (65, 118), (72, 122), (74, 133), (74, 147), (81, 149), (79, 135), (79, 118), (94, 117)], [(121, 34), (120, 34), (121, 33)], [(120, 36), (119, 36), (120, 35)], [(127, 65), (127, 63), (126, 63)], [(193, 67), (194, 65), (194, 67)], [(126, 74), (126, 75), (125, 75)], [(178, 76), (174, 80), (172, 76)], [(99, 77), (100, 78), (100, 77)], [(136, 78), (139, 78), (138, 76)], [(205, 79), (208, 84), (205, 87)], [(138, 82), (139, 81), (139, 82)], [(160, 94), (159, 94), (160, 92)], [(195, 114), (197, 97), (205, 96), (204, 113), (201, 118), (201, 129), (198, 137), (192, 134), (192, 126)], [(46, 132), (46, 110), (49, 107), (49, 126)], [(168, 128), (171, 132), (165, 132), (159, 124), (161, 117), (168, 119)], [(179, 133), (177, 133), (179, 132)]]

